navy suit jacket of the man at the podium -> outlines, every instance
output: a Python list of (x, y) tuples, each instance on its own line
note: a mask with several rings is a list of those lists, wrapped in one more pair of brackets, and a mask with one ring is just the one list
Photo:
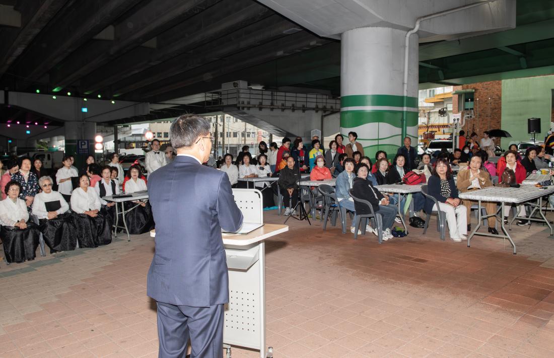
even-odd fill
[(193, 307), (229, 302), (221, 229), (239, 229), (243, 216), (227, 173), (177, 156), (148, 176), (148, 196), (156, 222), (148, 296)]

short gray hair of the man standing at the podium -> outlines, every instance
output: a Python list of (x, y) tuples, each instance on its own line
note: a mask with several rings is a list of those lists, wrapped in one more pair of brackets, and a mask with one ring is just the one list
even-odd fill
[(171, 144), (175, 149), (191, 147), (199, 136), (207, 136), (211, 127), (211, 122), (202, 116), (183, 114), (171, 124)]

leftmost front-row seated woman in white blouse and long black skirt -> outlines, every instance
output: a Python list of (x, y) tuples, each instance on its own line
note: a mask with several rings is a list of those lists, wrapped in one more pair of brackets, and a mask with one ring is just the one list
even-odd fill
[(19, 182), (10, 181), (6, 184), (7, 198), (0, 201), (0, 237), (8, 264), (34, 260), (40, 235), (37, 225), (28, 222), (27, 205), (18, 198), (20, 191)]

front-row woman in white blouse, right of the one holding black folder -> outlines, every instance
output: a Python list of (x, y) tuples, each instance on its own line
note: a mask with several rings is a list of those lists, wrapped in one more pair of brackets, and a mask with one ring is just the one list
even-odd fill
[(98, 247), (111, 243), (107, 214), (100, 211), (100, 197), (89, 187), (88, 175), (79, 177), (79, 187), (71, 193), (71, 219), (76, 227), (79, 247)]

